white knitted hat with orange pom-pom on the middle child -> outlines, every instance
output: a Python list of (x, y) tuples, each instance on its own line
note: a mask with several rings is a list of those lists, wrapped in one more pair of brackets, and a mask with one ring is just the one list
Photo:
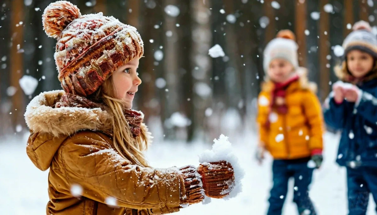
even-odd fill
[(271, 40), (264, 50), (263, 68), (268, 70), (273, 59), (282, 58), (290, 62), (294, 68), (299, 67), (297, 57), (298, 45), (295, 42), (296, 36), (290, 30), (280, 30), (276, 38)]

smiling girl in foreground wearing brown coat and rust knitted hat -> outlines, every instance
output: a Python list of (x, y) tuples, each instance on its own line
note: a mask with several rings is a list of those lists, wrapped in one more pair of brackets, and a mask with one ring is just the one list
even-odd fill
[[(149, 167), (143, 113), (131, 110), (141, 80), (143, 41), (113, 17), (81, 15), (66, 1), (43, 13), (58, 40), (55, 61), (64, 91), (43, 92), (25, 113), (27, 153), (49, 168), (48, 215), (149, 215), (222, 198), (234, 185), (226, 161), (181, 169)], [(110, 207), (110, 206), (111, 207)]]

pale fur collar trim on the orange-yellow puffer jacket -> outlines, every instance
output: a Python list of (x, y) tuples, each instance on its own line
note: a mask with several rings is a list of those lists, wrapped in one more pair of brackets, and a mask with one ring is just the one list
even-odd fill
[[(307, 89), (314, 93), (317, 92), (317, 85), (314, 82), (308, 80), (308, 70), (304, 67), (299, 67), (296, 69), (296, 73), (299, 76), (298, 84), (292, 86), (297, 86), (300, 89)], [(266, 80), (262, 83), (262, 91), (271, 92), (274, 90), (275, 84), (271, 80)], [(289, 89), (289, 88), (288, 88)]]

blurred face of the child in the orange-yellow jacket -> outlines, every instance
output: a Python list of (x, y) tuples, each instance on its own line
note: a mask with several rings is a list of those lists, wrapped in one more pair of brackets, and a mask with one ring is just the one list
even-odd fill
[(287, 81), (294, 70), (293, 65), (284, 59), (273, 59), (268, 68), (268, 76), (277, 83)]

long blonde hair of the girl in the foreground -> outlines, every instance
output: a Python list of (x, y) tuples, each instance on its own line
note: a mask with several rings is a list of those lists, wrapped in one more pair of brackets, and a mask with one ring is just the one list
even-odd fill
[(118, 153), (143, 167), (149, 167), (143, 151), (148, 148), (147, 130), (142, 124), (140, 134), (134, 138), (130, 126), (124, 117), (124, 105), (121, 100), (114, 98), (115, 88), (112, 77), (108, 78), (95, 93), (93, 100), (104, 104), (111, 116), (113, 145)]

